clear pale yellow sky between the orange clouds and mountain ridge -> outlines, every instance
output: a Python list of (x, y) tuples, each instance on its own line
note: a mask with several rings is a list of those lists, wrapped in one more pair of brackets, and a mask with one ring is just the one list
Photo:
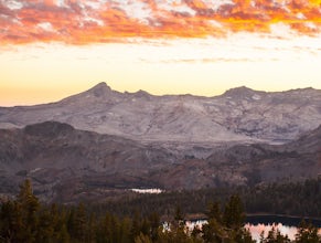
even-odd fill
[(321, 88), (319, 38), (237, 33), (224, 39), (130, 39), (128, 43), (32, 43), (0, 50), (0, 105), (55, 102), (106, 82), (113, 89), (214, 96)]

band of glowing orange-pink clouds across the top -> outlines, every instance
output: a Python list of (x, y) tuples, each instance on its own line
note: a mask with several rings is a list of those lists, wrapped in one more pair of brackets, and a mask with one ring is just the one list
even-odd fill
[(2, 44), (225, 36), (277, 24), (319, 34), (321, 0), (0, 0)]

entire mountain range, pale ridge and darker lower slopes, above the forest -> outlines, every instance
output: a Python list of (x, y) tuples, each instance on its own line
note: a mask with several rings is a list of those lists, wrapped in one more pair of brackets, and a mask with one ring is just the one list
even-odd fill
[(118, 93), (0, 108), (0, 193), (25, 178), (46, 201), (119, 190), (253, 186), (321, 173), (321, 91), (217, 97)]

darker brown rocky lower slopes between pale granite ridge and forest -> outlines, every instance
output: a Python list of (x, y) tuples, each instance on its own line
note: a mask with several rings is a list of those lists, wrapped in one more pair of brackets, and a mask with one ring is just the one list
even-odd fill
[(196, 156), (57, 122), (0, 129), (0, 193), (15, 193), (31, 178), (41, 199), (65, 203), (119, 189), (257, 184), (321, 172), (321, 126), (285, 145), (195, 145)]

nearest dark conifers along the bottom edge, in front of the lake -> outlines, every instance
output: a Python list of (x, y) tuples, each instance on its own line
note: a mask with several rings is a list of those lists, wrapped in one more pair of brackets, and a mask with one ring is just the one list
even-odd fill
[[(161, 201), (159, 201), (161, 204)], [(76, 205), (45, 204), (33, 194), (30, 180), (25, 180), (14, 200), (0, 205), (0, 242), (55, 243), (252, 243), (250, 233), (244, 228), (244, 203), (238, 194), (226, 198), (224, 204), (213, 201), (203, 209), (207, 224), (186, 230), (184, 208), (176, 204), (164, 228), (157, 210), (141, 213), (135, 210), (128, 215), (119, 215), (113, 209), (105, 212), (89, 204)], [(154, 208), (157, 209), (157, 208)], [(261, 243), (290, 242), (277, 230)], [(319, 243), (318, 229), (302, 223), (295, 242)]]

